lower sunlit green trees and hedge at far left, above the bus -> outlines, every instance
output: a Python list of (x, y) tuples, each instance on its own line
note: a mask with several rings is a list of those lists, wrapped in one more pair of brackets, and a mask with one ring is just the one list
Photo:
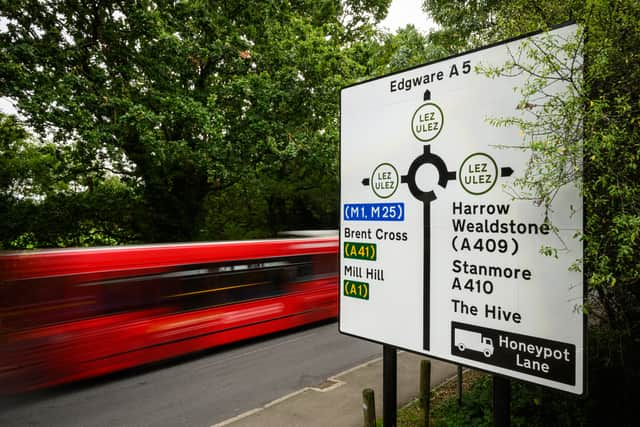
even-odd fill
[(0, 248), (65, 247), (135, 241), (135, 190), (121, 180), (80, 182), (73, 146), (30, 136), (0, 114)]

